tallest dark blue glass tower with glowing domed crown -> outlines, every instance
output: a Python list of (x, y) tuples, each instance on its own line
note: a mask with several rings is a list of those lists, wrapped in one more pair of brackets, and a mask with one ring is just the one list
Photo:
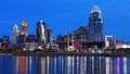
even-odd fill
[(103, 41), (103, 17), (101, 10), (94, 5), (89, 16), (89, 42)]

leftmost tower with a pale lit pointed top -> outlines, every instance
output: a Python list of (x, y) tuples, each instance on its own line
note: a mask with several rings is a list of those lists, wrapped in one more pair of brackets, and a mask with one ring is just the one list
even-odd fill
[(20, 35), (20, 30), (18, 30), (17, 25), (15, 24), (13, 27), (13, 35), (11, 36), (11, 44), (12, 45), (16, 45), (16, 42), (17, 42), (16, 38), (18, 35)]

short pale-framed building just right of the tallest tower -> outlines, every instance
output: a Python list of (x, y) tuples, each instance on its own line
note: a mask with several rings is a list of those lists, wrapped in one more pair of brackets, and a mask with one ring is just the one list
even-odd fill
[(113, 35), (105, 36), (105, 49), (115, 49), (116, 48), (116, 37)]

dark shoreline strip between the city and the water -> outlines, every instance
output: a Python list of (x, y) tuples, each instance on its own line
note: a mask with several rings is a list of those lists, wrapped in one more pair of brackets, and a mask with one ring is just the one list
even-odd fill
[(125, 53), (88, 53), (88, 52), (37, 52), (37, 53), (0, 53), (0, 55), (12, 57), (130, 57)]

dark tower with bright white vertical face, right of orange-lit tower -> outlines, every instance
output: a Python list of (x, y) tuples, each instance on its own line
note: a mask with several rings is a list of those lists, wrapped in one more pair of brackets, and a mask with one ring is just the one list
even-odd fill
[(37, 35), (37, 42), (39, 45), (46, 45), (48, 41), (48, 28), (47, 28), (47, 24), (42, 21), (39, 21), (37, 23), (37, 27), (36, 27), (36, 35)]

